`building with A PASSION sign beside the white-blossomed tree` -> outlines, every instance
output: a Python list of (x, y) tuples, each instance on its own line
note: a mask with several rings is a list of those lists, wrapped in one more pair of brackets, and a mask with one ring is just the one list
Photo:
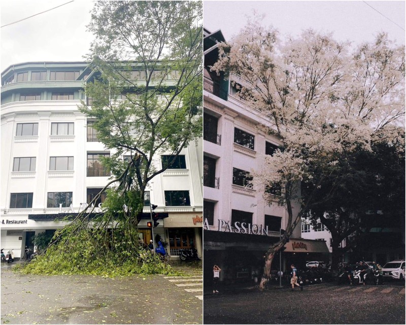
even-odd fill
[[(208, 282), (215, 264), (222, 269), (220, 281), (259, 276), (264, 253), (279, 240), (288, 221), (285, 207), (277, 204), (280, 192), (269, 193), (274, 201), (269, 205), (264, 189), (250, 185), (250, 171), (260, 170), (264, 155), (272, 155), (282, 142), (258, 131), (258, 125), (269, 126), (266, 118), (246, 105), (229, 80), (210, 71), (218, 58), (217, 44), (223, 41), (220, 30), (204, 31), (204, 274)], [(294, 211), (299, 211), (298, 202)], [(293, 238), (300, 239), (300, 224)], [(297, 256), (285, 255), (283, 269)], [(273, 269), (279, 269), (278, 256)]]

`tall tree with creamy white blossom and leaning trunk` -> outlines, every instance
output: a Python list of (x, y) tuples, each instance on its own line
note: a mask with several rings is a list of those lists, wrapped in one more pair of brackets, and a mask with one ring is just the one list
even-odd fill
[(355, 49), (311, 29), (282, 40), (255, 17), (220, 43), (219, 53), (212, 70), (229, 75), (246, 105), (267, 117), (265, 132), (283, 142), (264, 156), (263, 170), (252, 171), (257, 188), (282, 186), (279, 204), (288, 215), (282, 239), (265, 253), (263, 288), (275, 254), (318, 204), (316, 197), (328, 200), (340, 186), (346, 157), (371, 151), (373, 142), (403, 150), (404, 48), (384, 33)]

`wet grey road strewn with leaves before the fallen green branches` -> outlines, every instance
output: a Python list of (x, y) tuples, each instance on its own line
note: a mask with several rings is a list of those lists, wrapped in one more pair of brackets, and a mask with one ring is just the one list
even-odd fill
[(170, 280), (21, 275), (2, 267), (1, 323), (201, 324), (202, 301)]

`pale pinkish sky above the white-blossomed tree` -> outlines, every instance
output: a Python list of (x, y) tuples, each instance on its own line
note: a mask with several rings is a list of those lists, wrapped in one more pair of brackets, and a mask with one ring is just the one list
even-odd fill
[(404, 1), (205, 1), (204, 25), (212, 32), (221, 29), (227, 41), (255, 9), (265, 14), (265, 25), (272, 24), (282, 35), (297, 36), (313, 28), (332, 32), (336, 40), (359, 44), (386, 31), (389, 39), (404, 45), (404, 5)]

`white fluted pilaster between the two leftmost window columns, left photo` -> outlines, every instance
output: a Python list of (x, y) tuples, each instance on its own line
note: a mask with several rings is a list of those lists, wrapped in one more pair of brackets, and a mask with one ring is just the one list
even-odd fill
[(34, 193), (32, 208), (46, 208), (47, 202), (47, 178), (49, 170), (49, 136), (51, 128), (49, 127), (50, 112), (38, 112), (38, 153), (37, 153), (37, 186)]

